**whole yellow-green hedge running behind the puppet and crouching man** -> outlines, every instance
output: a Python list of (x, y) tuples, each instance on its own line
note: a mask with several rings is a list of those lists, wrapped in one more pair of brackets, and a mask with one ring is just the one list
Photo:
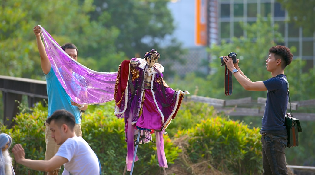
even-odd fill
[[(6, 129), (0, 125), (0, 132), (11, 135), (12, 145), (21, 143), (26, 158), (43, 160), (46, 147), (43, 121), (47, 108), (39, 103), (32, 109), (21, 111), (15, 118), (14, 127)], [(91, 105), (83, 114), (81, 124), (83, 138), (99, 157), (103, 174), (123, 174), (125, 167), (124, 120), (117, 119), (113, 111), (114, 102)], [(194, 174), (196, 171), (192, 171), (192, 167), (203, 161), (208, 165), (206, 172), (213, 169), (229, 174), (262, 172), (259, 129), (250, 129), (243, 122), (220, 116), (207, 104), (184, 102), (166, 131), (164, 150), (169, 165), (167, 172), (172, 172), (172, 167), (180, 167), (187, 174)], [(135, 162), (135, 174), (163, 172), (158, 166), (153, 142), (139, 145), (137, 155), (140, 160)], [(16, 174), (43, 174), (16, 163), (14, 170)]]

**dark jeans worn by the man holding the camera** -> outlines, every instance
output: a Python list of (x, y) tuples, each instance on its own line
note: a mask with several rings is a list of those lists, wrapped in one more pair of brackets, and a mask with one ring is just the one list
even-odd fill
[(263, 175), (288, 174), (284, 152), (288, 135), (262, 135), (261, 143)]

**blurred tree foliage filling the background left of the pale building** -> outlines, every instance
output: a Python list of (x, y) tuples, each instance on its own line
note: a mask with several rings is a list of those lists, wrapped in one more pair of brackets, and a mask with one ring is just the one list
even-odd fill
[[(114, 72), (121, 61), (157, 49), (162, 59), (178, 59), (181, 44), (161, 40), (174, 31), (168, 0), (9, 1), (0, 6), (0, 74), (43, 79), (32, 29), (40, 24), (60, 44), (74, 43), (78, 61)], [(161, 50), (159, 50), (161, 49)], [(166, 71), (167, 73), (167, 71)]]

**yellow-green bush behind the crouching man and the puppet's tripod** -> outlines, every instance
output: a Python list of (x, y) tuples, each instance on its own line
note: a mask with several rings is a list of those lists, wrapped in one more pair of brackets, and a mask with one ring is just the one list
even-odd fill
[[(25, 111), (25, 110), (23, 110)], [(0, 125), (0, 132), (11, 135), (13, 143), (20, 143), (26, 158), (43, 160), (46, 143), (44, 140), (47, 108), (37, 104), (33, 109), (26, 110), (16, 116), (16, 125), (7, 129)], [(91, 112), (90, 112), (91, 111)], [(102, 174), (123, 174), (127, 154), (125, 142), (124, 120), (117, 119), (113, 114), (114, 102), (105, 105), (92, 105), (83, 114), (83, 138), (89, 143), (100, 159)], [(153, 140), (155, 140), (153, 135)], [(174, 163), (181, 150), (173, 144), (168, 135), (164, 135), (165, 154), (168, 164)], [(161, 171), (156, 157), (156, 145), (153, 142), (138, 146), (139, 161), (135, 162), (135, 174), (155, 174)], [(16, 174), (43, 174), (14, 163)], [(61, 171), (59, 174), (61, 174)]]

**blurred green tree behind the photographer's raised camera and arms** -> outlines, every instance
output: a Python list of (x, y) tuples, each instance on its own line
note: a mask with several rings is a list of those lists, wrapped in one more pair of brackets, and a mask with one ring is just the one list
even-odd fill
[[(277, 26), (271, 27), (270, 24), (271, 18), (265, 20), (258, 17), (257, 22), (252, 25), (241, 24), (246, 31), (246, 37), (233, 37), (230, 43), (222, 41), (221, 45), (212, 45), (209, 53), (214, 58), (211, 63), (211, 69), (215, 73), (210, 75), (210, 78), (212, 81), (218, 82), (212, 84), (214, 89), (220, 89), (221, 94), (224, 94), (223, 78), (225, 68), (224, 66), (220, 66), (221, 61), (218, 56), (227, 55), (230, 52), (237, 53), (240, 68), (253, 82), (266, 80), (271, 77), (270, 73), (266, 71), (266, 59), (269, 48), (276, 45), (275, 41), (282, 41), (283, 39), (281, 38), (281, 34), (277, 32)], [(264, 97), (266, 96), (265, 94), (265, 92), (245, 91), (235, 77), (233, 77), (233, 98), (241, 98), (244, 95), (246, 97)]]

